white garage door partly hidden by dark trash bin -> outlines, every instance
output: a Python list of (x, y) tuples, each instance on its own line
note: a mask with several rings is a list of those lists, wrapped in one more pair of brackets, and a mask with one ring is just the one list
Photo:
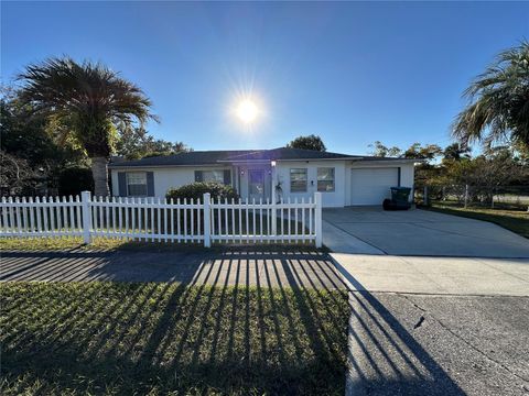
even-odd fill
[(363, 168), (350, 173), (350, 205), (382, 205), (389, 187), (399, 183), (399, 168)]

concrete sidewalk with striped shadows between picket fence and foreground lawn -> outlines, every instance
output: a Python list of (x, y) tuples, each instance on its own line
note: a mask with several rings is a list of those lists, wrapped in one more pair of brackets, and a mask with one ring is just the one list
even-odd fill
[(344, 288), (331, 256), (315, 251), (0, 252), (0, 280), (181, 282), (212, 286)]

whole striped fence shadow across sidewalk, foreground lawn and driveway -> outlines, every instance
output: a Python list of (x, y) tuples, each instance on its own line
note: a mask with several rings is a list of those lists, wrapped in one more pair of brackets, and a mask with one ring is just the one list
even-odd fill
[[(20, 284), (12, 296), (4, 289), (8, 384), (19, 392), (39, 381), (44, 391), (118, 394), (344, 394), (349, 360), (364, 373), (356, 391), (462, 394), (382, 304), (345, 289), (325, 253), (171, 254), (2, 253), (8, 280), (129, 280), (145, 266), (156, 280), (110, 289), (105, 282), (61, 282), (51, 295), (43, 284)], [(181, 272), (166, 270), (176, 263)], [(127, 265), (136, 272), (122, 273)], [(32, 317), (33, 326), (20, 324)], [(348, 349), (347, 337), (363, 349)]]

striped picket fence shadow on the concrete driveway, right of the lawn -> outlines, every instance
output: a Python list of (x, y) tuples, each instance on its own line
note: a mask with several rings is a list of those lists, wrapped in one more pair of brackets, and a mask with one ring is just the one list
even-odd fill
[[(346, 394), (465, 395), (430, 352), (414, 339), (411, 333), (414, 327), (412, 320), (402, 323), (354, 275), (341, 267), (339, 263), (335, 264), (354, 288), (349, 292), (352, 315)], [(451, 348), (439, 346), (439, 350)]]

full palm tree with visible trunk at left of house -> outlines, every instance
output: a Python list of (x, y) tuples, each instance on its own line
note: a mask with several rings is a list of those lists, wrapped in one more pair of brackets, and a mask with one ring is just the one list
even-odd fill
[(61, 138), (80, 145), (91, 160), (95, 195), (107, 196), (115, 125), (155, 119), (149, 98), (105, 65), (78, 64), (69, 57), (30, 65), (19, 79), (23, 81), (21, 100), (31, 105), (34, 114), (65, 127), (58, 131)]

